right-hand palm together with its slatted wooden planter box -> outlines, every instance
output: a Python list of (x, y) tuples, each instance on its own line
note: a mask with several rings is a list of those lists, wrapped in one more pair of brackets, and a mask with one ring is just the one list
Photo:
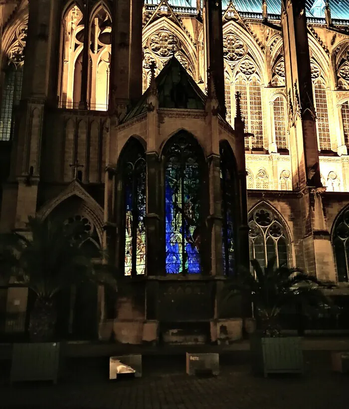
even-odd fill
[(250, 341), (254, 369), (264, 376), (302, 373), (301, 337), (281, 336), (280, 312), (287, 307), (321, 308), (331, 302), (322, 291), (322, 283), (298, 268), (277, 267), (275, 258), (264, 268), (257, 260), (251, 265), (252, 272), (239, 272), (226, 298), (243, 293), (252, 301), (257, 323)]

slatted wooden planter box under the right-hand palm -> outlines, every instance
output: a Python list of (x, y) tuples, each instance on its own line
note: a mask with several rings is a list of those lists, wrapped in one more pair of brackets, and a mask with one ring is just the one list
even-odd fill
[(303, 351), (300, 337), (251, 339), (251, 353), (254, 370), (268, 374), (302, 374)]

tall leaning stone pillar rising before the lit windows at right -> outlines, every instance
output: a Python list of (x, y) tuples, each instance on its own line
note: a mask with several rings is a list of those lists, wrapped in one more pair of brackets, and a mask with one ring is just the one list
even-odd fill
[(304, 0), (283, 0), (281, 28), (289, 109), (296, 127), (290, 145), (291, 152), (297, 147), (299, 187), (319, 188), (322, 185)]

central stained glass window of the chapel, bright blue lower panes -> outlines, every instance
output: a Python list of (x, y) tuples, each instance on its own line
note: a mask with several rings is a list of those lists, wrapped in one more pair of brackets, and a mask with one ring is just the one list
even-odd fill
[(180, 133), (165, 151), (165, 228), (167, 274), (200, 273), (199, 146)]

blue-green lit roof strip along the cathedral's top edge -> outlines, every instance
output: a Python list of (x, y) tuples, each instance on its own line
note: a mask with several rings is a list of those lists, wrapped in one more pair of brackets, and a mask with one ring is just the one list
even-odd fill
[[(147, 4), (159, 4), (160, 0), (145, 0)], [(307, 16), (325, 18), (326, 0), (306, 0)], [(169, 0), (174, 7), (196, 8), (196, 0)], [(238, 11), (261, 13), (262, 0), (234, 0)], [(333, 19), (349, 20), (349, 0), (329, 0)], [(227, 8), (229, 0), (222, 0), (223, 9)], [(280, 15), (281, 0), (267, 0), (268, 13)]]

